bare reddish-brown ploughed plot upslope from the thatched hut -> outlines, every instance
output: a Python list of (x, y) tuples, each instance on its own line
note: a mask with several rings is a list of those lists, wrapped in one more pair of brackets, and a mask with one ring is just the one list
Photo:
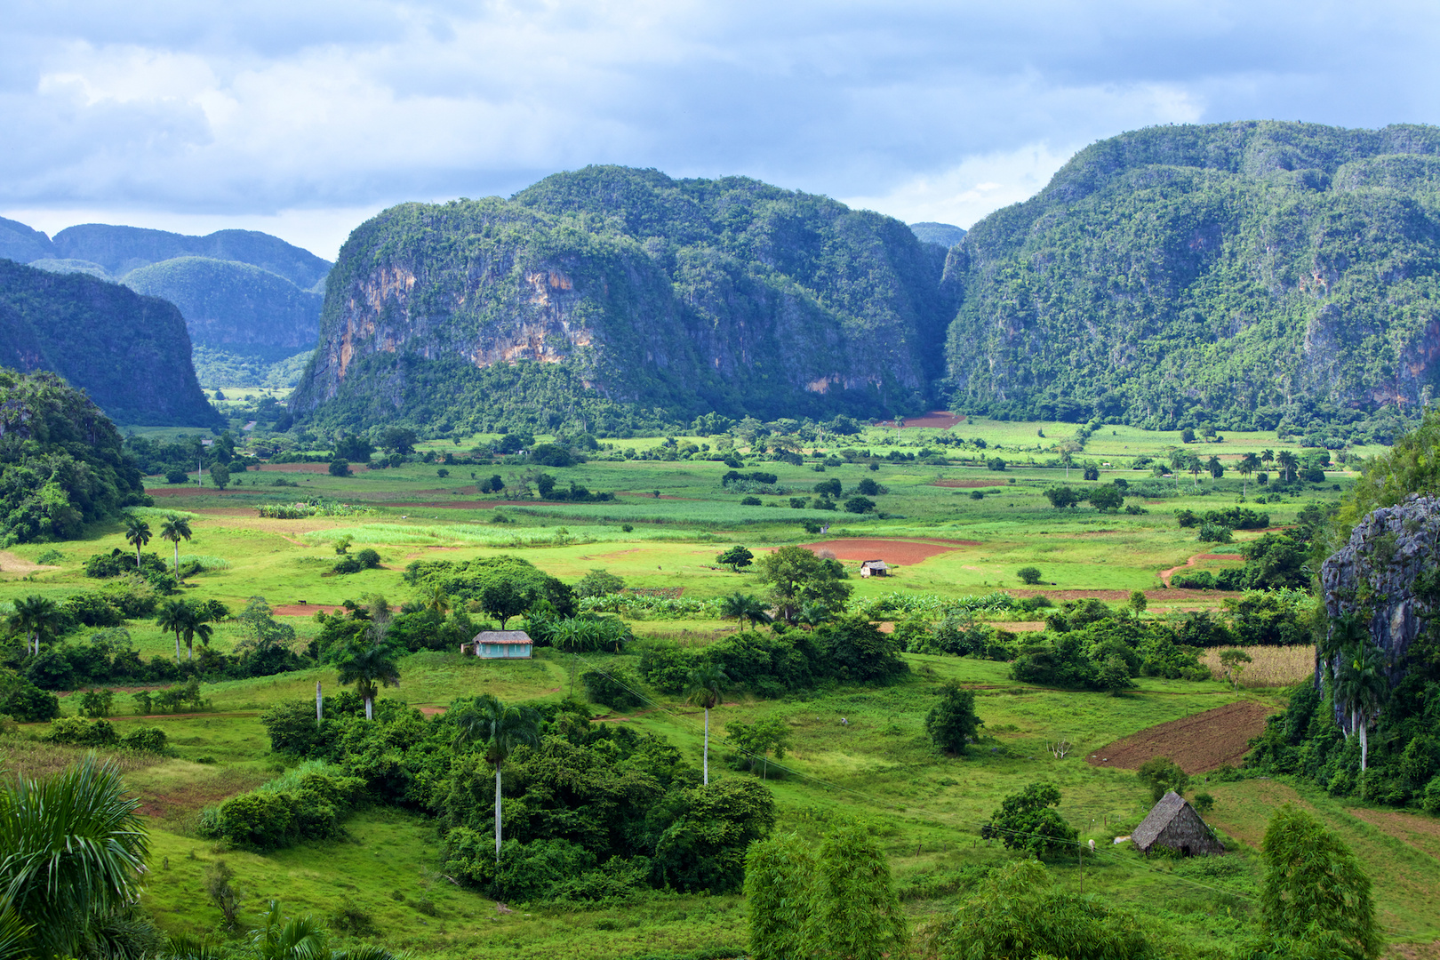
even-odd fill
[(1260, 735), (1272, 712), (1272, 707), (1241, 699), (1133, 733), (1093, 750), (1086, 763), (1138, 770), (1151, 757), (1169, 757), (1189, 774), (1227, 763), (1236, 767), (1250, 748), (1250, 738)]

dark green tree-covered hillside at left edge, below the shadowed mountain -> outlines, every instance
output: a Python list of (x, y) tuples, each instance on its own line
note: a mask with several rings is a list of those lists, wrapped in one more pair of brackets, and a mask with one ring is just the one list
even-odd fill
[(115, 425), (84, 393), (0, 368), (0, 545), (76, 537), (150, 502)]

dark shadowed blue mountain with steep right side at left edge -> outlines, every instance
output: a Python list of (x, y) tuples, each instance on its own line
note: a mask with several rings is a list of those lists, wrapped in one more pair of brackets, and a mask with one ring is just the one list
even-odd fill
[(180, 311), (84, 273), (0, 261), (0, 367), (58, 373), (121, 423), (219, 423)]

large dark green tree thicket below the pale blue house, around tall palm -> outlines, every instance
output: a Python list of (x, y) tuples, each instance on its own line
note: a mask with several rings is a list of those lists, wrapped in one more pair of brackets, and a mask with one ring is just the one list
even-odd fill
[(367, 721), (346, 695), (327, 698), (323, 715), (312, 702), (281, 704), (262, 723), (274, 750), (324, 760), (327, 776), (363, 782), (369, 800), (435, 818), (445, 874), (497, 900), (736, 889), (746, 848), (773, 826), (759, 780), (706, 786), (665, 740), (593, 724), (575, 701), (482, 695), (423, 717), (382, 699)]

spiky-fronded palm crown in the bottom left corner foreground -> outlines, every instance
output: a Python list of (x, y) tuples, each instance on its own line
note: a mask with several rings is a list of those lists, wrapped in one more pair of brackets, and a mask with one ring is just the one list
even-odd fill
[(85, 956), (96, 927), (138, 900), (148, 838), (140, 800), (125, 793), (120, 770), (95, 754), (0, 789), (0, 936), (29, 927), (9, 956)]

